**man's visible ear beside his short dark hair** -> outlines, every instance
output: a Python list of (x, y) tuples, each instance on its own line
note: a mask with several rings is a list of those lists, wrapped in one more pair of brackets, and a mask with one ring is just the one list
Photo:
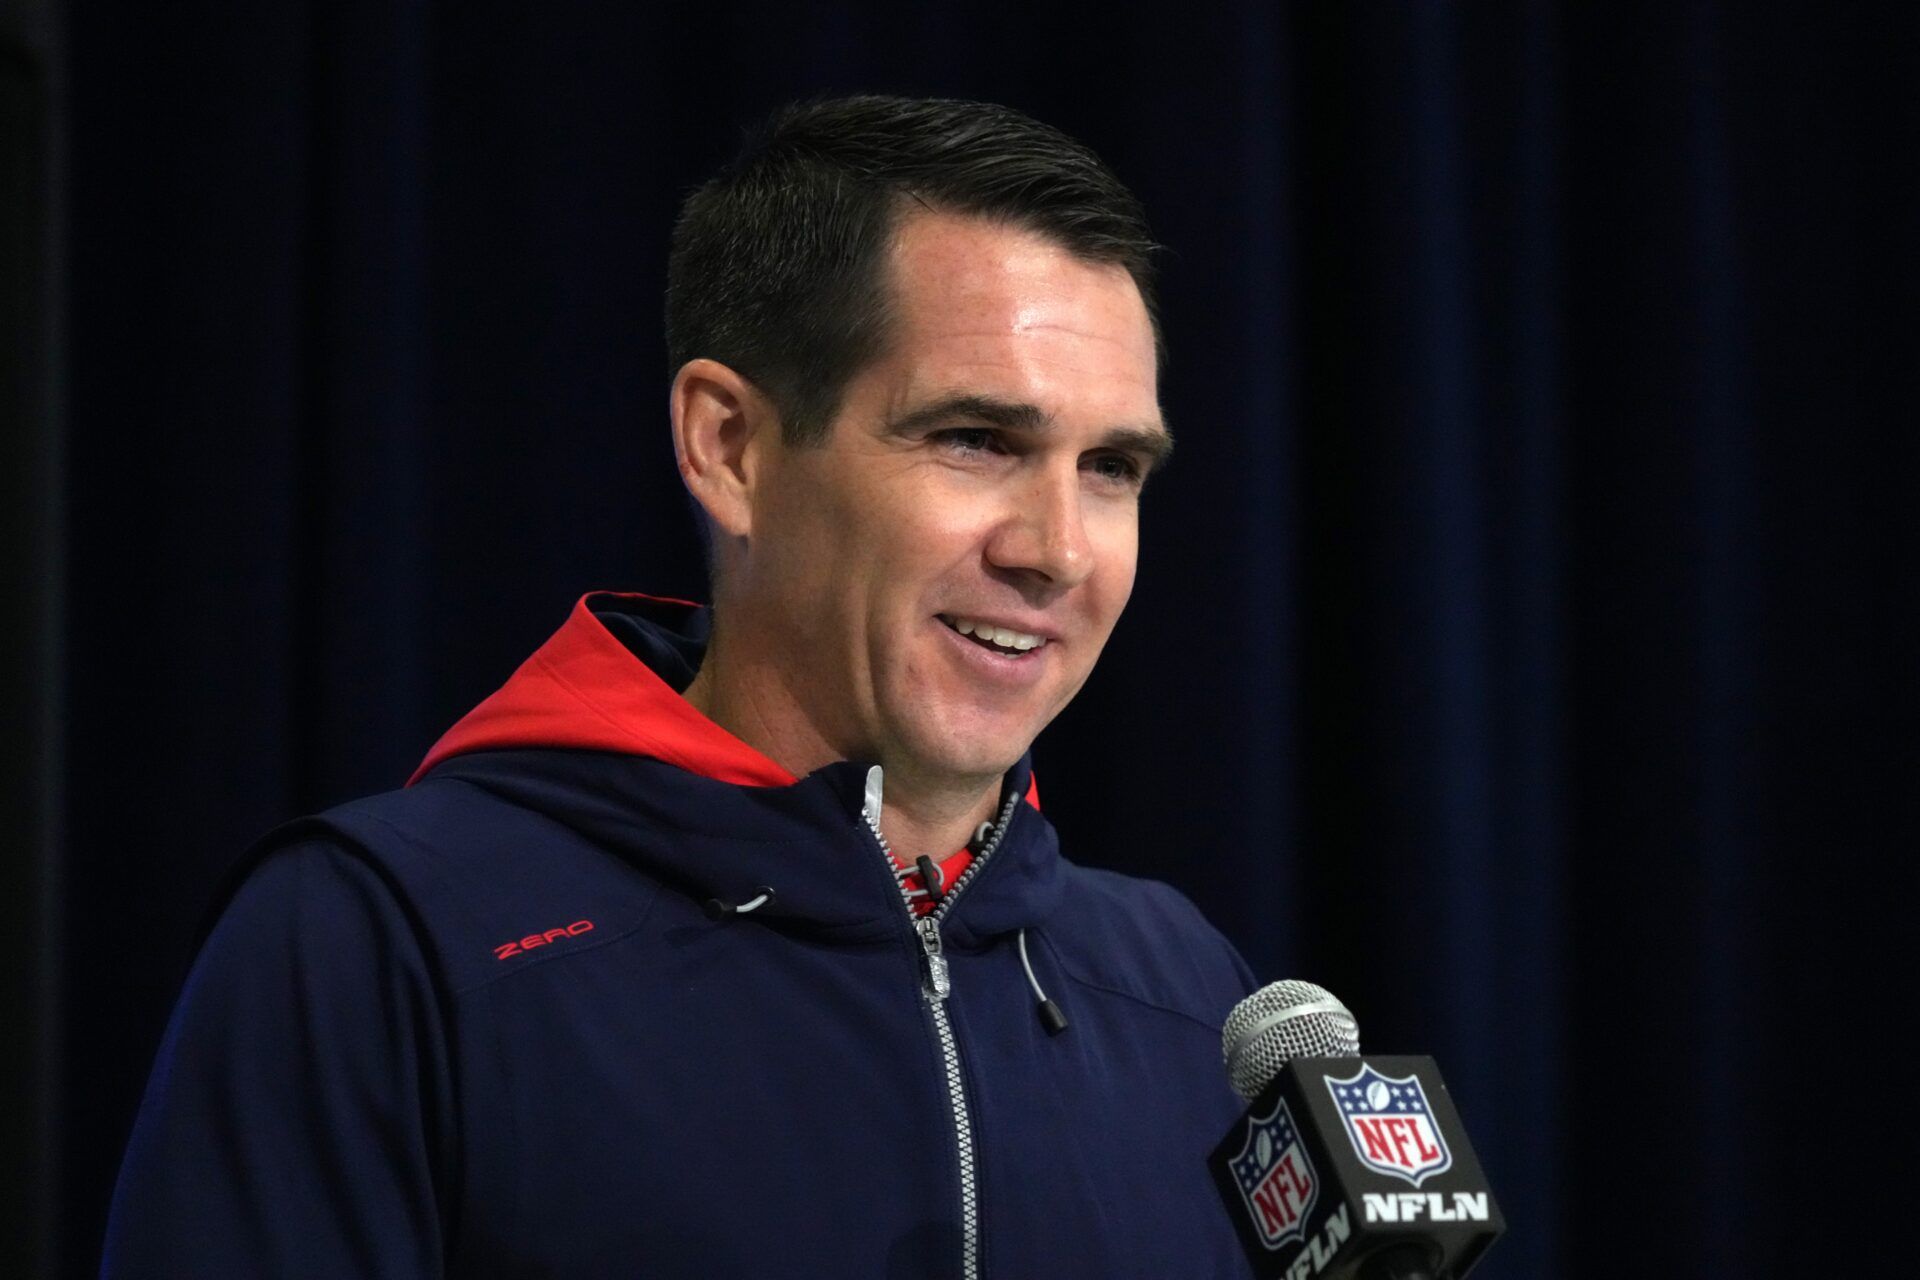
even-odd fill
[(760, 451), (780, 436), (774, 407), (753, 382), (720, 361), (687, 361), (674, 374), (674, 457), (687, 493), (707, 509), (714, 532), (753, 532), (753, 486)]

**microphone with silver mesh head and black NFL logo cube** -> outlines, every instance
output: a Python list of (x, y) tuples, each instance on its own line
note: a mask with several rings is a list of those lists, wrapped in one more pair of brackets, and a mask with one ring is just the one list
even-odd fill
[(1208, 1163), (1261, 1280), (1459, 1280), (1507, 1230), (1434, 1061), (1361, 1057), (1327, 988), (1261, 986), (1221, 1055), (1250, 1105)]

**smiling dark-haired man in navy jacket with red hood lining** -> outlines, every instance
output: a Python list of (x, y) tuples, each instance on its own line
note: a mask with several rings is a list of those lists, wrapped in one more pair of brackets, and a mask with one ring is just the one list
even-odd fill
[(409, 789), (263, 844), (106, 1270), (1244, 1274), (1204, 1157), (1246, 967), (1066, 862), (1027, 764), (1171, 447), (1148, 249), (981, 104), (787, 109), (695, 192), (710, 616), (586, 597)]

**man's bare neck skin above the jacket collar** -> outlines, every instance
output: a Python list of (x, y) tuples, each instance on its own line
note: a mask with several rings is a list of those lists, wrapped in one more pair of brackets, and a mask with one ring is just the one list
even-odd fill
[[(778, 679), (737, 672), (718, 649), (708, 649), (701, 670), (682, 697), (693, 710), (747, 743), (795, 777), (824, 764), (847, 760), (804, 714), (799, 699)], [(941, 862), (958, 852), (998, 812), (1000, 777), (927, 775), (908, 762), (876, 764), (885, 771), (879, 833), (908, 864), (922, 854)]]

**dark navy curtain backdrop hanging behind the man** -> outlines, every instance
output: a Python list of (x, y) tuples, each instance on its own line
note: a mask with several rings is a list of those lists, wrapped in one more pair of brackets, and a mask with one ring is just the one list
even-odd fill
[(1025, 107), (1171, 246), (1179, 459), (1037, 745), (1069, 850), (1440, 1057), (1488, 1280), (1891, 1238), (1916, 12), (67, 4), (58, 1274), (238, 850), (582, 591), (703, 591), (668, 226), (837, 90)]

